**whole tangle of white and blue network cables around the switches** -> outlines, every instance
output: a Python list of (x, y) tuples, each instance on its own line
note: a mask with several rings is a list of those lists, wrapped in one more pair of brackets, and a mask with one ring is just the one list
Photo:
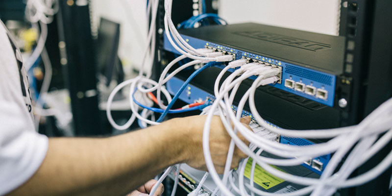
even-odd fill
[[(152, 10), (152, 19), (150, 24), (150, 29), (148, 33), (148, 46), (146, 49), (146, 53), (148, 50), (152, 52), (153, 50), (153, 42), (155, 40), (154, 30), (156, 11), (158, 7), (158, 0), (150, 0), (148, 2), (148, 6)], [(334, 129), (325, 129), (325, 130), (288, 130), (288, 129), (277, 129), (270, 127), (268, 123), (264, 121), (264, 119), (258, 114), (258, 111), (255, 107), (255, 90), (257, 87), (262, 85), (272, 84), (277, 82), (279, 78), (277, 75), (280, 70), (266, 64), (260, 63), (248, 63), (247, 60), (241, 59), (237, 61), (232, 61), (233, 56), (231, 55), (219, 55), (212, 50), (209, 49), (194, 49), (190, 46), (178, 33), (176, 27), (172, 23), (171, 11), (172, 11), (172, 0), (165, 0), (165, 17), (164, 17), (164, 25), (165, 25), (165, 33), (167, 35), (168, 40), (172, 44), (172, 46), (180, 52), (182, 55), (175, 58), (168, 66), (164, 69), (161, 74), (159, 81), (155, 82), (151, 79), (148, 79), (150, 76), (150, 72), (147, 72), (146, 76), (143, 75), (143, 66), (140, 70), (140, 74), (138, 77), (127, 80), (121, 83), (109, 96), (108, 104), (107, 104), (107, 116), (109, 122), (118, 129), (126, 129), (132, 124), (132, 122), (138, 118), (141, 123), (144, 123), (143, 126), (147, 124), (159, 124), (165, 117), (165, 115), (169, 112), (177, 112), (180, 110), (185, 111), (185, 109), (179, 110), (171, 110), (172, 104), (181, 94), (181, 90), (176, 93), (176, 95), (172, 98), (170, 94), (167, 92), (166, 88), (163, 86), (170, 78), (172, 78), (176, 73), (181, 70), (196, 64), (205, 64), (200, 69), (196, 70), (194, 74), (191, 75), (190, 78), (183, 84), (182, 88), (189, 83), (189, 81), (203, 69), (214, 66), (216, 62), (224, 62), (229, 61), (230, 63), (226, 66), (215, 82), (214, 86), (214, 94), (216, 99), (213, 101), (212, 105), (203, 109), (202, 114), (207, 114), (207, 119), (204, 125), (203, 130), (203, 152), (206, 160), (208, 171), (210, 175), (214, 179), (217, 189), (213, 193), (216, 195), (218, 191), (221, 192), (221, 195), (224, 196), (234, 196), (234, 195), (242, 195), (242, 196), (254, 196), (255, 194), (261, 196), (300, 196), (311, 194), (312, 196), (329, 196), (333, 195), (337, 189), (357, 186), (367, 181), (374, 179), (380, 173), (388, 169), (392, 164), (392, 152), (387, 155), (387, 157), (379, 163), (372, 170), (361, 174), (359, 176), (348, 179), (349, 175), (369, 160), (376, 152), (378, 152), (382, 147), (388, 144), (392, 139), (392, 99), (388, 100), (384, 104), (382, 104), (379, 108), (377, 108), (373, 113), (371, 113), (365, 120), (355, 126), (342, 127), (342, 128), (334, 128)], [(149, 15), (149, 9), (147, 11)], [(194, 21), (197, 21), (196, 18)], [(196, 23), (196, 22), (195, 22)], [(191, 26), (194, 22), (190, 22), (187, 26)], [(185, 24), (184, 24), (185, 25)], [(146, 57), (146, 55), (145, 55)], [(172, 66), (185, 59), (191, 58), (193, 61), (184, 64), (177, 68), (174, 72), (167, 75), (170, 68)], [(219, 86), (221, 78), (224, 73), (226, 73), (230, 68), (238, 68), (236, 71), (231, 73), (222, 83), (221, 87)], [(248, 78), (251, 75), (257, 75), (257, 79), (254, 80), (252, 86), (246, 91), (243, 98), (241, 98), (237, 111), (234, 112), (232, 110), (232, 104), (236, 92), (242, 83), (243, 80)], [(124, 86), (130, 85), (130, 104), (131, 110), (133, 112), (132, 117), (129, 119), (127, 123), (124, 125), (116, 124), (111, 115), (110, 115), (110, 104), (113, 100), (114, 95)], [(159, 105), (160, 108), (151, 108), (144, 107), (140, 104), (135, 98), (135, 92), (141, 92), (143, 94), (149, 94), (151, 96), (151, 92), (157, 91), (157, 97), (154, 98), (155, 102)], [(165, 106), (161, 100), (161, 92), (164, 94), (165, 98), (168, 100), (168, 105)], [(319, 138), (330, 140), (325, 143), (310, 145), (310, 146), (290, 146), (285, 144), (277, 143), (271, 138), (266, 137), (260, 134), (257, 134), (240, 122), (240, 118), (242, 117), (242, 111), (244, 109), (245, 102), (248, 101), (250, 105), (251, 113), (255, 121), (263, 126), (272, 136), (287, 136), (294, 138)], [(268, 103), (266, 103), (268, 104)], [(138, 107), (141, 106), (144, 108), (141, 115), (138, 113)], [(200, 105), (198, 105), (200, 106)], [(204, 105), (203, 107), (207, 106)], [(208, 109), (207, 109), (208, 108)], [(186, 108), (188, 109), (188, 108)], [(197, 108), (197, 109), (201, 109)], [(157, 121), (148, 120), (147, 116), (152, 113), (147, 112), (147, 110), (151, 110), (153, 112), (162, 113)], [(231, 136), (232, 141), (230, 143), (228, 156), (226, 160), (226, 167), (224, 170), (223, 177), (220, 178), (217, 171), (215, 170), (214, 164), (212, 162), (210, 149), (209, 149), (209, 133), (210, 133), (210, 124), (212, 121), (212, 117), (218, 114), (221, 118), (222, 123), (224, 124), (228, 134)], [(152, 118), (152, 117), (151, 117)], [(234, 128), (232, 125), (234, 125)], [(371, 131), (369, 131), (371, 130)], [(248, 140), (251, 144), (247, 146), (242, 140), (237, 136), (237, 132), (240, 132), (246, 140)], [(382, 135), (382, 136), (381, 136)], [(379, 138), (379, 136), (381, 136)], [(239, 147), (243, 152), (245, 152), (249, 157), (245, 159), (241, 164), (239, 169), (237, 170), (239, 179), (238, 182), (234, 182), (234, 178), (232, 172), (230, 170), (233, 152), (235, 147)], [(352, 149), (350, 151), (350, 149)], [(256, 152), (255, 152), (256, 151)], [(266, 151), (270, 154), (277, 155), (279, 157), (283, 157), (284, 159), (274, 159), (269, 157), (260, 156), (260, 154)], [(332, 159), (329, 161), (328, 165), (324, 169), (322, 175), (319, 179), (308, 178), (302, 176), (292, 175), (286, 172), (281, 172), (273, 168), (270, 165), (275, 166), (297, 166), (303, 164), (305, 161), (319, 157), (326, 154), (333, 153)], [(338, 164), (341, 162), (343, 157), (347, 157), (344, 161), (343, 165), (335, 172), (338, 168)], [(244, 182), (244, 172), (245, 165), (249, 158), (253, 159), (252, 169), (250, 175), (250, 183)], [(265, 169), (267, 172), (271, 174), (285, 179), (289, 182), (294, 182), (296, 184), (301, 184), (306, 186), (303, 189), (298, 191), (294, 191), (292, 193), (287, 194), (273, 194), (268, 192), (263, 192), (254, 188), (253, 186), (253, 174), (255, 170), (256, 163)], [(177, 172), (178, 175), (178, 168)], [(164, 175), (159, 179), (156, 186), (154, 186), (153, 190), (159, 185), (159, 182), (165, 178), (169, 172), (172, 170), (172, 167), (168, 168)], [(208, 173), (205, 174), (205, 177)], [(178, 180), (178, 176), (175, 178)], [(199, 186), (196, 190), (200, 190), (202, 186), (202, 182), (199, 183)], [(200, 187), (200, 188), (199, 188)], [(175, 189), (173, 190), (175, 192)], [(173, 192), (173, 193), (174, 193)], [(150, 193), (150, 196), (154, 194), (154, 191)], [(192, 193), (192, 195), (198, 195), (198, 191)]]

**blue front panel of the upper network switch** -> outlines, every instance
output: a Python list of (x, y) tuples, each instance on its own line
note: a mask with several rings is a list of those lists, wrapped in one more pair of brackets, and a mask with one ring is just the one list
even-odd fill
[[(182, 35), (187, 42), (193, 46), (194, 48), (210, 48), (217, 49), (217, 51), (222, 51), (227, 54), (235, 55), (235, 59), (248, 59), (250, 62), (260, 62), (266, 64), (268, 66), (273, 66), (281, 69), (280, 80), (275, 84), (270, 84), (275, 88), (293, 93), (295, 95), (311, 99), (313, 101), (333, 106), (334, 98), (335, 98), (335, 84), (336, 84), (336, 76), (330, 73), (323, 73), (317, 70), (312, 70), (303, 66), (294, 65), (292, 63), (278, 60), (275, 58), (268, 57), (267, 55), (257, 54), (255, 52), (246, 51), (244, 49), (236, 49), (234, 47), (229, 47), (221, 44), (217, 44), (214, 42), (197, 39), (191, 36)], [(169, 41), (164, 36), (164, 49), (176, 54), (180, 54), (177, 50), (175, 50)], [(218, 66), (219, 67), (219, 66)], [(223, 69), (224, 66), (221, 66)], [(229, 69), (228, 72), (234, 72), (235, 69)], [(257, 76), (253, 75), (249, 77), (250, 79), (256, 79)], [(294, 81), (292, 82), (293, 88), (290, 88), (286, 85), (286, 81)], [(303, 88), (295, 89), (295, 82), (299, 84), (304, 84), (305, 89)], [(298, 86), (299, 87), (299, 86)], [(317, 90), (320, 94), (317, 96)]]

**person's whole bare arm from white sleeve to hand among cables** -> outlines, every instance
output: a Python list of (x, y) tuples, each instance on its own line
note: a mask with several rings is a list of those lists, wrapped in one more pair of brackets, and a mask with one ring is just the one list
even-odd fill
[[(205, 116), (172, 119), (111, 138), (49, 139), (41, 167), (9, 195), (121, 196), (173, 164), (188, 163), (205, 169), (204, 120)], [(214, 117), (211, 127), (211, 153), (222, 172), (230, 137), (219, 117)], [(243, 157), (237, 149), (233, 162)]]

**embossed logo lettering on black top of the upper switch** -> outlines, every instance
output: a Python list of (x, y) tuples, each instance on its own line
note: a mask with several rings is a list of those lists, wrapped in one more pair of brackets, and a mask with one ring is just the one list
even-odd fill
[(312, 51), (331, 49), (331, 46), (328, 44), (321, 44), (263, 31), (236, 32), (234, 34)]

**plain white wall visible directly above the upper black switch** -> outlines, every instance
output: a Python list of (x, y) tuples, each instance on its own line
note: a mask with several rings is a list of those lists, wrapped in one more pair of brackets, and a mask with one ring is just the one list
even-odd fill
[(228, 23), (254, 22), (329, 35), (339, 34), (342, 0), (219, 0)]

